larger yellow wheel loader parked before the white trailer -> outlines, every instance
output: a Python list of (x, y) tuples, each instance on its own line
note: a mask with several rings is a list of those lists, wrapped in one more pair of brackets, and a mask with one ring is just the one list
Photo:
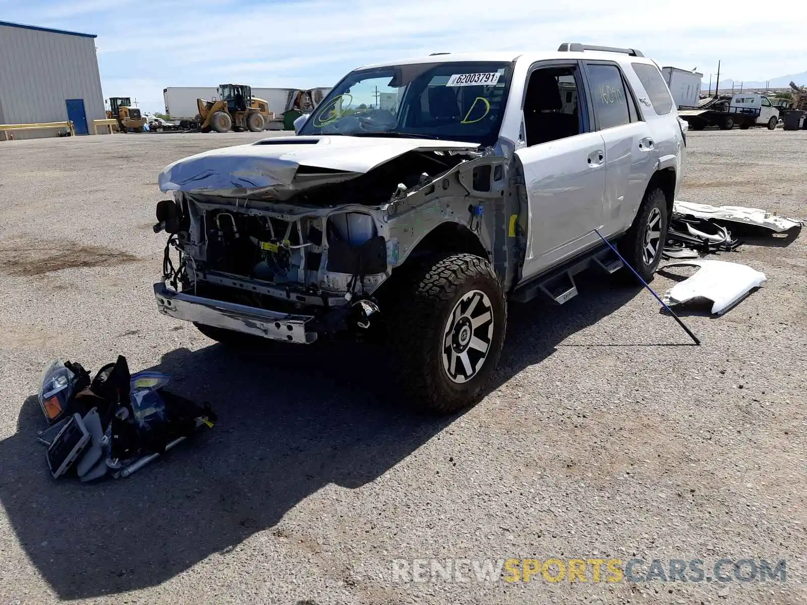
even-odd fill
[(203, 132), (253, 131), (261, 132), (271, 119), (269, 103), (253, 97), (252, 88), (243, 84), (222, 84), (219, 98), (207, 101), (196, 99), (199, 115), (196, 119)]

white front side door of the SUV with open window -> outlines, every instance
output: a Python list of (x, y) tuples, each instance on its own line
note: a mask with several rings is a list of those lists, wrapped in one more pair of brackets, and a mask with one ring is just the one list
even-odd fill
[[(538, 77), (541, 69), (568, 69), (571, 75), (558, 78), (557, 90), (537, 87), (535, 92), (540, 97), (537, 111), (544, 119), (551, 119), (553, 112), (565, 114), (563, 119), (567, 119), (575, 115), (567, 113), (573, 103), (577, 107), (577, 127), (571, 136), (536, 144), (531, 144), (522, 128), (527, 146), (518, 149), (516, 156), (523, 167), (529, 201), (522, 279), (542, 273), (596, 243), (598, 238), (593, 229), (600, 227), (603, 212), (605, 148), (602, 136), (590, 127), (579, 63), (538, 64), (530, 70), (528, 82), (529, 78)], [(562, 78), (565, 81), (560, 82)], [(530, 88), (528, 84), (522, 111), (530, 111), (532, 106)]]

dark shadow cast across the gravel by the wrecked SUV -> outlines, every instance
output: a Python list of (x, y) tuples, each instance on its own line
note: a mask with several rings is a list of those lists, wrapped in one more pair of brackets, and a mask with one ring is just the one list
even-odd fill
[[(511, 307), (491, 387), (639, 292), (585, 281), (562, 307)], [(641, 342), (626, 334), (622, 344), (634, 338)], [(0, 443), (0, 502), (61, 599), (156, 586), (211, 554), (227, 557), (330, 483), (354, 489), (373, 481), (456, 419), (408, 411), (383, 357), (358, 344), (172, 351), (154, 368), (172, 375), (177, 392), (210, 402), (217, 424), (132, 478), (96, 485), (50, 479), (36, 441), (41, 411), (29, 397), (18, 432)]]

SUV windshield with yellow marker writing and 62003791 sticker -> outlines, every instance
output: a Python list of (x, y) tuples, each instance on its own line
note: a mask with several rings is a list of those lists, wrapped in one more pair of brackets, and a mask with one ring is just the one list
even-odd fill
[(396, 65), (351, 72), (300, 135), (371, 133), (493, 144), (504, 114), (509, 63)]

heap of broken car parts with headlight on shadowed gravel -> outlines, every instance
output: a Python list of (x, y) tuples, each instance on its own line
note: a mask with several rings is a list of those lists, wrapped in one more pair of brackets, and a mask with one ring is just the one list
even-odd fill
[(212, 427), (210, 407), (165, 390), (168, 382), (159, 372), (129, 373), (123, 356), (92, 379), (81, 364), (48, 364), (39, 401), (49, 426), (38, 440), (48, 446), (53, 478), (125, 478), (197, 429)]

